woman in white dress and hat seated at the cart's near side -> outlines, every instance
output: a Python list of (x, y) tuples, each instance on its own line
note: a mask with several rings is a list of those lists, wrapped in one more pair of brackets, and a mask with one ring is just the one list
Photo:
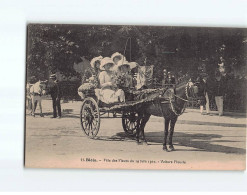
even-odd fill
[(104, 71), (99, 74), (101, 89), (95, 90), (97, 98), (106, 104), (125, 102), (123, 90), (117, 87), (116, 74), (112, 70), (113, 66), (114, 62), (111, 58), (105, 57), (102, 59), (100, 69)]

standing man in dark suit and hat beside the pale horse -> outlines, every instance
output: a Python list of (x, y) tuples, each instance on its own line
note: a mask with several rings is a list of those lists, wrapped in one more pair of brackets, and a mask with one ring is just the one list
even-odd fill
[[(50, 76), (51, 86), (50, 86), (50, 94), (52, 98), (52, 106), (53, 106), (53, 117), (51, 118), (61, 118), (61, 90), (59, 86), (59, 82), (57, 80), (56, 74), (52, 74)], [(58, 117), (57, 117), (58, 112)]]

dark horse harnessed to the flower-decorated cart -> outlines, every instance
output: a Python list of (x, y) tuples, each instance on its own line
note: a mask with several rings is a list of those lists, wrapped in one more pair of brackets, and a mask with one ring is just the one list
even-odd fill
[[(148, 122), (151, 115), (164, 117), (164, 141), (163, 141), (163, 150), (173, 151), (174, 146), (172, 144), (172, 137), (174, 132), (174, 127), (178, 116), (180, 116), (186, 107), (186, 103), (189, 97), (196, 97), (198, 88), (192, 82), (191, 79), (181, 82), (177, 87), (170, 88), (166, 90), (158, 100), (153, 102), (147, 102), (142, 104), (138, 109), (138, 120), (137, 120), (137, 129), (136, 129), (136, 141), (139, 144), (140, 134), (143, 136), (144, 143), (147, 143), (144, 128)], [(162, 97), (166, 97), (166, 100), (162, 101)], [(170, 125), (170, 129), (169, 129)], [(168, 131), (169, 129), (169, 131)], [(167, 148), (167, 138), (169, 144), (169, 150)]]

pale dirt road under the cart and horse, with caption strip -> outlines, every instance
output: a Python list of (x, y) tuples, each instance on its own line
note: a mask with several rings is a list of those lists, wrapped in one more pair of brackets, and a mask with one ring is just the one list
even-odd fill
[(50, 118), (51, 101), (42, 103), (44, 118), (26, 117), (26, 167), (245, 169), (243, 115), (209, 116), (187, 109), (175, 126), (176, 151), (164, 152), (162, 118), (151, 117), (147, 123), (145, 135), (149, 145), (137, 145), (123, 132), (121, 118), (112, 118), (112, 114), (102, 118), (97, 138), (89, 139), (80, 126), (81, 102), (62, 103), (61, 119)]

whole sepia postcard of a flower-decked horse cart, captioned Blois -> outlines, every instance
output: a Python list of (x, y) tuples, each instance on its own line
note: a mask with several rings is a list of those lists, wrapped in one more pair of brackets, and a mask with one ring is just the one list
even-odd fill
[(26, 168), (245, 170), (247, 29), (27, 24)]

